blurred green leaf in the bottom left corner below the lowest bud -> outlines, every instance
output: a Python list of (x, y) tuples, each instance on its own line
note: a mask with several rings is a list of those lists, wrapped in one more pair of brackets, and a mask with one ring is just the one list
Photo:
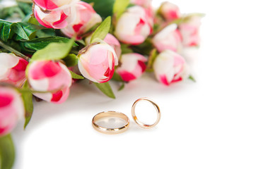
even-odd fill
[(0, 168), (11, 169), (15, 159), (15, 149), (11, 134), (0, 137)]

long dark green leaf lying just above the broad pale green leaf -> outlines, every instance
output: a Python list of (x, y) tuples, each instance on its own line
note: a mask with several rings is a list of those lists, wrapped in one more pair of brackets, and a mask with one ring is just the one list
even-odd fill
[[(47, 46), (48, 44), (51, 44), (52, 42), (67, 43), (69, 42), (69, 40), (70, 39), (66, 37), (41, 37), (41, 38), (35, 38), (32, 40), (29, 40), (29, 41), (20, 42), (20, 44), (21, 46), (23, 46), (23, 49), (25, 51), (35, 52), (40, 49), (44, 49), (45, 46)], [(73, 45), (78, 46), (78, 44), (76, 44), (75, 42)]]

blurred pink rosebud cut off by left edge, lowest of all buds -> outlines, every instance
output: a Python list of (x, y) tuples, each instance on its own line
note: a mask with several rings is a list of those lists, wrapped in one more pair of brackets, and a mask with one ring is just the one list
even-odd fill
[(24, 114), (21, 94), (11, 87), (0, 87), (0, 137), (11, 132)]

